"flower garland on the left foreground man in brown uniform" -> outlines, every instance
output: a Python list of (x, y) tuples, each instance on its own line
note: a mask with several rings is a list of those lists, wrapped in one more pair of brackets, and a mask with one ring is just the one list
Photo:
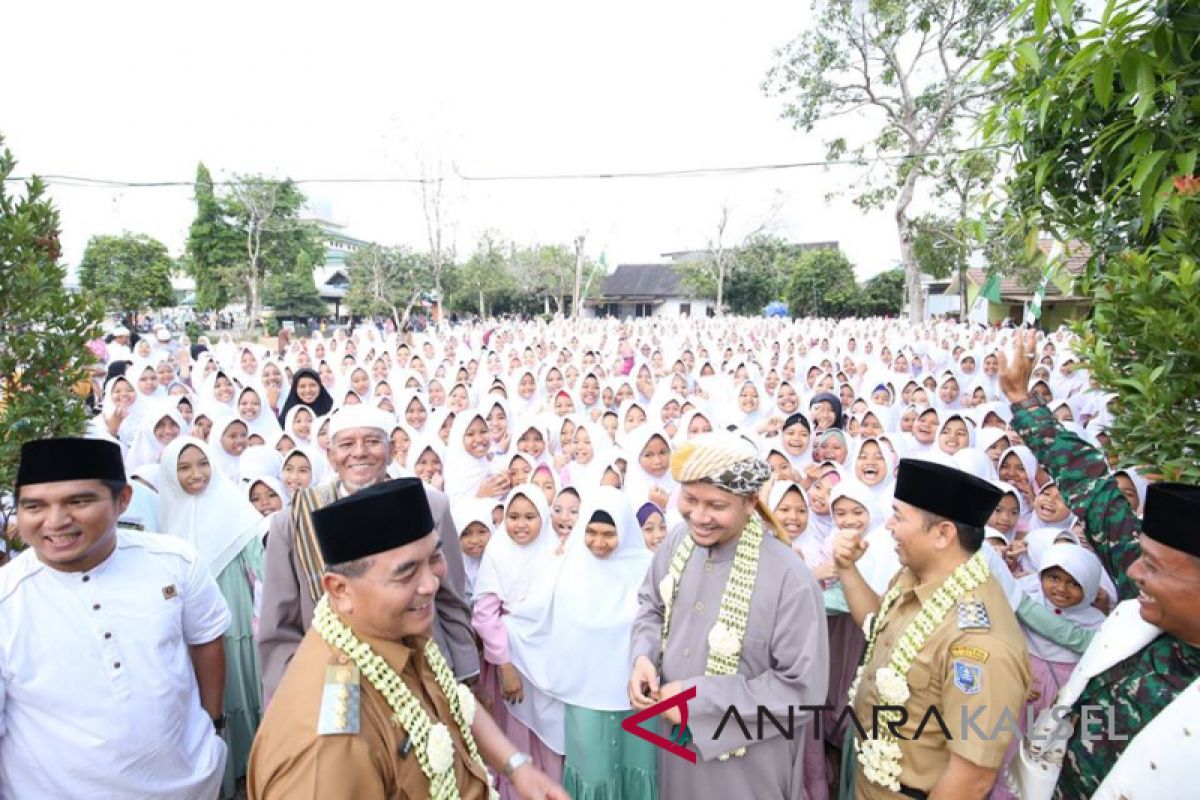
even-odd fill
[[(329, 607), (328, 595), (322, 595), (320, 600), (317, 601), (312, 626), (329, 646), (346, 654), (358, 666), (362, 675), (371, 681), (371, 685), (388, 700), (388, 705), (394, 712), (392, 722), (408, 732), (421, 771), (430, 780), (430, 798), (432, 800), (460, 800), (458, 783), (454, 774), (454, 738), (450, 735), (450, 729), (442, 722), (434, 722), (421, 706), (416, 696), (396, 674), (396, 670), (388, 666), (388, 662), (372, 650), (370, 644), (360, 642), (349, 626), (338, 619), (334, 609)], [(450, 666), (432, 638), (425, 643), (425, 660), (433, 669), (433, 678), (450, 705), (450, 712), (462, 733), (470, 757), (486, 772), (487, 768), (475, 746), (475, 736), (470, 732), (472, 722), (475, 720), (475, 698), (469, 688), (455, 680)], [(499, 798), (491, 783), (488, 783), (488, 796), (492, 800)]]

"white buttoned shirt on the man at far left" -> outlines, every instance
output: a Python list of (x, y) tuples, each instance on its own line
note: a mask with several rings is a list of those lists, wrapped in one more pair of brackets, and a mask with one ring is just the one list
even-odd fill
[(0, 796), (211, 800), (226, 744), (187, 646), (229, 608), (196, 551), (118, 530), (90, 572), (0, 569)]

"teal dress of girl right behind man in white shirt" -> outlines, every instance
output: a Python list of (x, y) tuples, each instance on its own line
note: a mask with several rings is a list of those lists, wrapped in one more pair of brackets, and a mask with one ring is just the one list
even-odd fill
[[(253, 584), (251, 583), (253, 576)], [(229, 630), (226, 631), (226, 762), (221, 796), (234, 798), (238, 781), (246, 776), (250, 745), (263, 721), (263, 679), (254, 649), (254, 585), (263, 582), (263, 540), (254, 536), (238, 558), (217, 576), (217, 588), (229, 606)]]

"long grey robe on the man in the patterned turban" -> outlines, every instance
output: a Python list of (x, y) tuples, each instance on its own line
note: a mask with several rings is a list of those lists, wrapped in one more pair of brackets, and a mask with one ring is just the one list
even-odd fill
[[(790, 547), (769, 534), (758, 559), (758, 577), (750, 600), (750, 620), (736, 675), (704, 675), (708, 631), (716, 624), (725, 584), (733, 569), (739, 540), (714, 548), (696, 547), (684, 566), (671, 613), (671, 632), (662, 652), (662, 600), (659, 582), (666, 576), (686, 524), (677, 527), (658, 553), (638, 590), (634, 621), (632, 660), (646, 656), (660, 666), (664, 684), (696, 687), (688, 703), (695, 764), (659, 751), (662, 800), (695, 798), (755, 798), (780, 800), (804, 796), (804, 736), (812, 735), (811, 712), (792, 709), (796, 735), (787, 740), (764, 720), (757, 741), (758, 706), (786, 727), (788, 706), (821, 705), (829, 679), (829, 644), (824, 601), (816, 579)], [(751, 735), (748, 740), (734, 718), (720, 739), (714, 734), (730, 705), (736, 705)], [(671, 726), (660, 721), (660, 734)], [(718, 760), (746, 746), (742, 758)]]

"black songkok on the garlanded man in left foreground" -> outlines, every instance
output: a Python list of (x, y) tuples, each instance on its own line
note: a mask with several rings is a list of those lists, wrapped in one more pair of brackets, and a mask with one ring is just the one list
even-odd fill
[(433, 513), (421, 481), (401, 477), (317, 509), (312, 525), (325, 564), (346, 564), (424, 539)]

